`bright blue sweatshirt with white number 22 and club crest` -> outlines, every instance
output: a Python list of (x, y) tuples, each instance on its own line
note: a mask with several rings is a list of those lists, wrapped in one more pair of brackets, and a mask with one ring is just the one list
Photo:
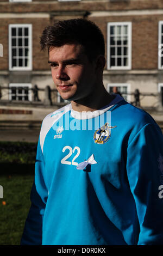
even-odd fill
[(162, 244), (162, 174), (159, 126), (121, 96), (48, 114), (21, 245)]

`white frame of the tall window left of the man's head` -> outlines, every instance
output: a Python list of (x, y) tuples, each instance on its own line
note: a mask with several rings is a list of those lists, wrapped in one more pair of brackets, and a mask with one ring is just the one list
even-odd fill
[[(29, 42), (29, 65), (28, 66), (14, 66), (12, 68), (12, 44), (11, 44), (11, 29), (28, 27), (28, 42)], [(9, 25), (9, 70), (32, 70), (32, 24), (10, 24)]]

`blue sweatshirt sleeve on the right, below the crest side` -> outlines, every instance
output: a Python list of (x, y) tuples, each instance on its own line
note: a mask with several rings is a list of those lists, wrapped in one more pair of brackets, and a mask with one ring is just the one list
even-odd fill
[(128, 145), (127, 175), (140, 224), (138, 245), (163, 243), (162, 156), (163, 136), (156, 124), (143, 126)]

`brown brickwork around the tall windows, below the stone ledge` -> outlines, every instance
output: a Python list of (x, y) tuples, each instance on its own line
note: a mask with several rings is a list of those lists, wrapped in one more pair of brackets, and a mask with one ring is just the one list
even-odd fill
[[(103, 14), (104, 15), (104, 14)], [(107, 41), (108, 22), (132, 22), (132, 69), (158, 69), (158, 22), (163, 20), (162, 15), (139, 16), (93, 16), (87, 19), (95, 22), (102, 30)], [(63, 16), (65, 18), (65, 16)], [(69, 15), (68, 18), (71, 19)], [(40, 36), (52, 22), (48, 18), (2, 19), (0, 13), (0, 42), (4, 46), (3, 61), (0, 70), (8, 70), (8, 26), (9, 24), (26, 24), (33, 26), (33, 70), (49, 70), (47, 52), (40, 51)], [(60, 18), (61, 19), (61, 18)], [(106, 57), (106, 56), (105, 56)]]

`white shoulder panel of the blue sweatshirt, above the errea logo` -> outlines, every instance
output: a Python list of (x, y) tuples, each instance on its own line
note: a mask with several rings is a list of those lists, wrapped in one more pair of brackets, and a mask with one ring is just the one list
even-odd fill
[(51, 129), (53, 124), (55, 122), (57, 122), (62, 117), (62, 115), (64, 115), (70, 109), (71, 109), (71, 104), (68, 104), (68, 105), (48, 114), (43, 119), (41, 131), (40, 131), (40, 146), (41, 146), (42, 153), (43, 153), (43, 144), (44, 144), (45, 137), (46, 137), (48, 131)]

